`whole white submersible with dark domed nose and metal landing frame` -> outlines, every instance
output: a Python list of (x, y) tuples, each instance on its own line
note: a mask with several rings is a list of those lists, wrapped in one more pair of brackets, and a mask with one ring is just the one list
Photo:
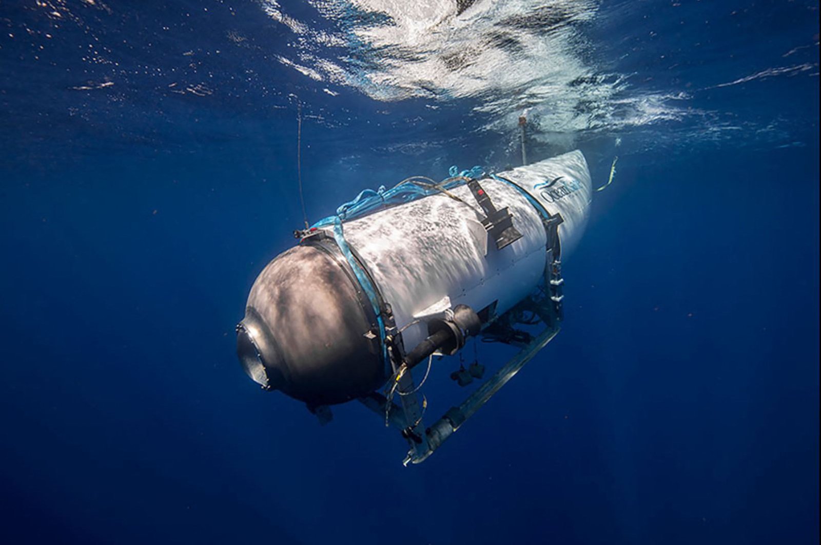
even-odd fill
[[(323, 422), (329, 405), (360, 400), (400, 429), (406, 464), (426, 459), (556, 335), (561, 263), (585, 229), (590, 183), (575, 150), (360, 193), (259, 274), (237, 326), (242, 367)], [(520, 352), (425, 427), (412, 370), (437, 372), (430, 358), (470, 337)], [(460, 385), (483, 376), (482, 366), (452, 373)]]

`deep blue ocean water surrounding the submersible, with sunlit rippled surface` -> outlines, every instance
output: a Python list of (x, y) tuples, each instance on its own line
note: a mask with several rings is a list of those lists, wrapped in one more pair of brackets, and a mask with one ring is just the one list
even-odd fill
[[(2, 543), (819, 543), (818, 2), (456, 4), (0, 2)], [(424, 464), (236, 361), (298, 109), (311, 220), (522, 114), (619, 158), (562, 332)]]

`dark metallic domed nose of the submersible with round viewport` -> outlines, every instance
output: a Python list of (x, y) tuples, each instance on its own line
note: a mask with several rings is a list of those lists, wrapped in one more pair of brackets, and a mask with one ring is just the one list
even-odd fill
[(245, 372), (308, 404), (337, 404), (385, 380), (378, 339), (342, 256), (298, 246), (260, 273), (237, 326)]

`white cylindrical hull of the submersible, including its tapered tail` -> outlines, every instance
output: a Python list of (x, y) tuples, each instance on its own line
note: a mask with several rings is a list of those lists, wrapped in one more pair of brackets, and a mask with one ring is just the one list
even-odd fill
[[(587, 222), (590, 175), (576, 150), (481, 181), (497, 209), (508, 208), (522, 237), (498, 250), (480, 223), (484, 213), (468, 187), (380, 210), (345, 223), (345, 238), (363, 261), (397, 327), (466, 304), (498, 314), (525, 298), (543, 278), (547, 235), (542, 216), (521, 190), (564, 220), (562, 257), (576, 246)], [(521, 189), (520, 189), (521, 188)], [(403, 332), (406, 347), (427, 335), (423, 322)]]

